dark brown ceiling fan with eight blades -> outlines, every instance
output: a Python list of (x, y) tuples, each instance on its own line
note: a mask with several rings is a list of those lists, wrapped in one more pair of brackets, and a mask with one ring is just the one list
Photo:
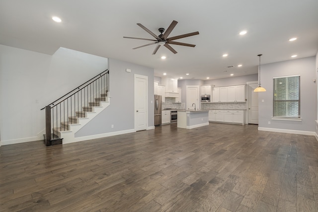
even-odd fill
[[(157, 44), (157, 47), (155, 48), (153, 55), (156, 54), (156, 52), (158, 51), (160, 46), (165, 46), (168, 50), (170, 50), (171, 52), (173, 52), (174, 54), (177, 53), (177, 51), (175, 51), (169, 44), (174, 44), (174, 45), (180, 45), (180, 46), (189, 46), (189, 47), (195, 47), (195, 45), (193, 44), (188, 44), (188, 43), (180, 43), (180, 42), (175, 42), (174, 40), (176, 39), (180, 39), (180, 38), (185, 38), (185, 37), (190, 37), (193, 35), (198, 35), (199, 32), (191, 32), (191, 33), (187, 33), (187, 34), (183, 34), (183, 35), (178, 35), (178, 36), (174, 36), (174, 37), (170, 37), (168, 38), (169, 34), (171, 33), (171, 31), (173, 30), (173, 28), (175, 27), (175, 25), (177, 25), (177, 21), (172, 21), (172, 23), (170, 24), (170, 26), (167, 28), (167, 30), (165, 30), (164, 32), (164, 28), (159, 28), (159, 32), (161, 33), (160, 35), (156, 35), (155, 33), (153, 33), (152, 31), (150, 31), (149, 29), (147, 29), (144, 25), (142, 25), (141, 23), (137, 23), (138, 26), (140, 26), (141, 28), (143, 28), (146, 32), (148, 32), (149, 34), (151, 34), (155, 39), (147, 39), (147, 38), (133, 38), (133, 37), (124, 37), (124, 38), (131, 38), (131, 39), (139, 39), (139, 40), (147, 40), (147, 41), (155, 41), (153, 43), (150, 44), (146, 44), (143, 46), (139, 46), (133, 49), (138, 49), (141, 47), (145, 47), (145, 46), (149, 46), (149, 45), (153, 45), (153, 44)], [(164, 32), (164, 33), (163, 33)], [(163, 34), (162, 34), (163, 33)]]

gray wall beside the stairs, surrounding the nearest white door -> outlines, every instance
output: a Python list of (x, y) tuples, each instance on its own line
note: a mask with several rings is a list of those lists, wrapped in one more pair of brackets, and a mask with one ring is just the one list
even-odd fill
[[(126, 72), (126, 69), (131, 72)], [(81, 128), (76, 137), (135, 128), (134, 74), (148, 76), (148, 126), (154, 126), (154, 69), (109, 59), (110, 106)]]

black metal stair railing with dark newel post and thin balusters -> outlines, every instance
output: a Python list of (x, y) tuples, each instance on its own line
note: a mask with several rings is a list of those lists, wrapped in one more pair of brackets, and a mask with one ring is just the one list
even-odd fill
[(59, 139), (60, 131), (69, 131), (70, 124), (77, 124), (92, 106), (105, 101), (109, 91), (109, 71), (105, 70), (84, 82), (74, 90), (45, 106), (45, 143)]

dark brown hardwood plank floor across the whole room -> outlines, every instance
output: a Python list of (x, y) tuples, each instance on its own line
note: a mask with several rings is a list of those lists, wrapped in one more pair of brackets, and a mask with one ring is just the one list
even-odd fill
[(1, 146), (0, 211), (318, 212), (316, 138), (257, 127)]

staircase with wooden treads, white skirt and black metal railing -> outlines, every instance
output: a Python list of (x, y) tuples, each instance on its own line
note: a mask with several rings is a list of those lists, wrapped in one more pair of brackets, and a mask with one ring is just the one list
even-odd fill
[(103, 71), (43, 108), (47, 146), (83, 140), (76, 132), (110, 105), (108, 75)]

